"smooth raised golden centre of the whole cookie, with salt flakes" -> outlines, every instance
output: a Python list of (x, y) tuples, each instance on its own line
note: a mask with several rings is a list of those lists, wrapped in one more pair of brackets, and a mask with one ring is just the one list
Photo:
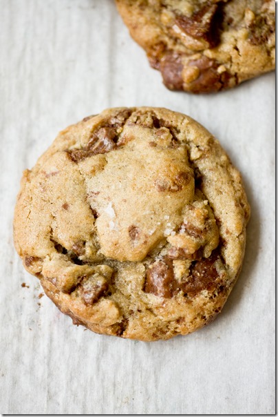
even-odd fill
[(100, 253), (119, 261), (142, 261), (167, 236), (170, 218), (173, 228), (182, 222), (182, 209), (194, 195), (186, 148), (169, 129), (131, 120), (119, 134), (106, 127), (96, 132), (109, 135), (115, 151), (102, 148), (93, 164), (92, 157), (78, 162), (96, 213)]

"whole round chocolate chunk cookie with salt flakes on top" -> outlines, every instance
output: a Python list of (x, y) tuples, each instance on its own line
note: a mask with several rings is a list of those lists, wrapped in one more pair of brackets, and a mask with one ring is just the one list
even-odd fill
[(200, 124), (112, 108), (63, 130), (23, 173), (14, 243), (75, 324), (169, 339), (220, 313), (249, 214), (238, 171)]

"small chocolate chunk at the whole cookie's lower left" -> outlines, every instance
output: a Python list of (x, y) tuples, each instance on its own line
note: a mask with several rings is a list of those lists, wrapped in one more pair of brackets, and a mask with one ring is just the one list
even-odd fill
[(81, 282), (81, 296), (86, 304), (94, 304), (108, 290), (108, 282), (102, 275), (95, 274)]

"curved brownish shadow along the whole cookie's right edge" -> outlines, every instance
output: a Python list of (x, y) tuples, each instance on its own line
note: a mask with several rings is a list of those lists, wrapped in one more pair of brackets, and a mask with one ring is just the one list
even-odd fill
[(252, 285), (252, 273), (258, 262), (257, 255), (260, 250), (259, 237), (261, 233), (259, 208), (253, 196), (250, 184), (248, 184), (248, 181), (246, 181), (244, 177), (242, 180), (244, 182), (244, 189), (246, 191), (247, 200), (251, 208), (250, 220), (246, 229), (246, 251), (242, 265), (242, 271), (239, 273), (235, 287), (229, 295), (228, 300), (222, 309), (222, 313), (217, 318), (217, 320), (226, 319), (226, 315), (231, 314), (231, 311), (233, 311), (233, 309), (235, 309), (235, 307), (237, 307), (237, 305), (241, 302), (244, 291), (246, 291), (246, 289)]

